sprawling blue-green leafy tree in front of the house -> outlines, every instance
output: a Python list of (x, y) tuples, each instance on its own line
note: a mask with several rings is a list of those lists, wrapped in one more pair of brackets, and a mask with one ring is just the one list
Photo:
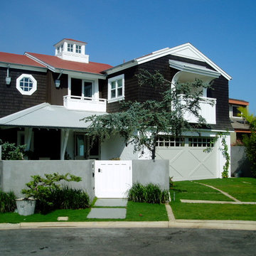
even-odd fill
[(159, 134), (178, 137), (184, 130), (196, 128), (195, 124), (191, 125), (184, 119), (183, 113), (189, 111), (198, 117), (197, 127), (205, 124), (199, 114), (199, 101), (202, 100), (200, 96), (203, 88), (210, 85), (196, 79), (173, 86), (159, 71), (149, 73), (140, 70), (137, 78), (139, 86), (154, 88), (152, 91), (156, 94), (155, 98), (161, 100), (123, 101), (120, 103), (120, 112), (93, 115), (82, 120), (90, 122), (87, 135), (92, 139), (99, 138), (104, 142), (112, 135), (119, 134), (126, 144), (134, 145), (134, 151), (143, 151), (146, 148), (151, 152), (151, 159), (155, 159)]

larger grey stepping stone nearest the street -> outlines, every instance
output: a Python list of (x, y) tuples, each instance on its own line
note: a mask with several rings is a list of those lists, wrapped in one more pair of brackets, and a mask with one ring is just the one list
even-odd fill
[(123, 219), (126, 217), (125, 208), (92, 208), (87, 218), (113, 218)]

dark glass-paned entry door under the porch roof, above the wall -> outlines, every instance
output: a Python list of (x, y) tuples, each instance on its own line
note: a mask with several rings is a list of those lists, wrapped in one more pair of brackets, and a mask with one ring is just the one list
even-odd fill
[(98, 140), (92, 145), (92, 139), (85, 134), (75, 134), (75, 159), (100, 159), (100, 143)]

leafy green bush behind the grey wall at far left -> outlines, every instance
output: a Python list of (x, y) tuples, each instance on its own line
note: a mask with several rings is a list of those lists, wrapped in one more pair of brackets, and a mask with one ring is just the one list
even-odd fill
[(23, 160), (23, 154), (26, 149), (26, 145), (16, 146), (15, 143), (2, 142), (0, 139), (0, 146), (2, 160)]

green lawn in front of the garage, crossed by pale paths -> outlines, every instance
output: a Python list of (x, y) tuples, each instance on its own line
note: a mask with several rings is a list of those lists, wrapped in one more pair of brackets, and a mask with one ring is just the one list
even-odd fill
[[(256, 201), (255, 181), (255, 178), (224, 178), (198, 182), (215, 186), (241, 201)], [(171, 208), (177, 219), (256, 220), (256, 205), (181, 203), (180, 199), (231, 201), (218, 191), (193, 181), (174, 182), (174, 188), (171, 189), (172, 198), (174, 192), (176, 200), (171, 201)]]

